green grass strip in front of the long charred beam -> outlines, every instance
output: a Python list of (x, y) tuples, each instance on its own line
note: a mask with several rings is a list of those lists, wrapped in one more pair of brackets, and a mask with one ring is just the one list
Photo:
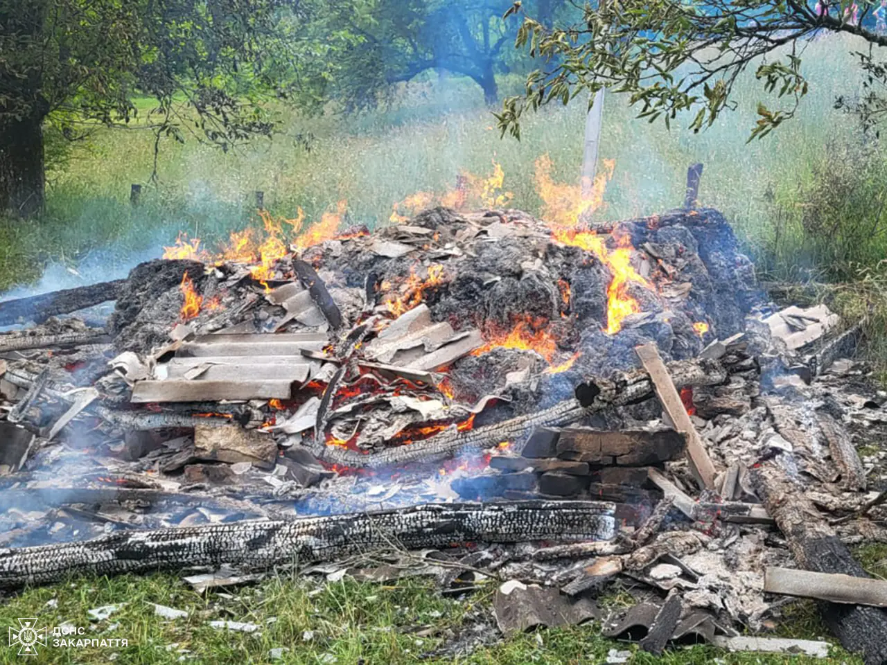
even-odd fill
[[(18, 617), (36, 616), (50, 627), (71, 622), (86, 628), (82, 638), (126, 638), (119, 648), (41, 649), (38, 662), (185, 662), (241, 665), (243, 662), (286, 662), (300, 665), (342, 663), (460, 663), (464, 665), (561, 665), (602, 662), (610, 649), (631, 650), (633, 664), (695, 665), (722, 659), (725, 665), (760, 663), (861, 662), (836, 650), (828, 661), (755, 653), (723, 653), (705, 645), (681, 648), (654, 658), (633, 645), (600, 637), (598, 627), (585, 625), (487, 640), (471, 653), (440, 650), (470, 631), (477, 617), (492, 621), (490, 591), (467, 599), (446, 599), (426, 583), (357, 583), (349, 577), (319, 585), (308, 580), (271, 578), (239, 590), (208, 591), (200, 595), (171, 575), (80, 579), (24, 591), (0, 606), (0, 624), (17, 625)], [(188, 617), (165, 620), (153, 605), (174, 607)], [(90, 621), (87, 611), (121, 605), (106, 620)], [(616, 602), (616, 605), (621, 603)], [(259, 633), (216, 630), (210, 621), (251, 622)], [(491, 627), (483, 628), (490, 637)], [(821, 634), (821, 633), (820, 633)], [(271, 650), (286, 647), (280, 661)], [(12, 649), (0, 649), (0, 662), (20, 662)]]

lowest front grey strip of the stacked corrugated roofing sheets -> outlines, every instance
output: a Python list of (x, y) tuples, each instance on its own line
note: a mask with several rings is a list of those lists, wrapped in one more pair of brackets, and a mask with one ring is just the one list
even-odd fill
[(293, 382), (286, 379), (258, 381), (139, 381), (132, 389), (131, 403), (216, 402), (219, 400), (281, 399), (293, 394)]

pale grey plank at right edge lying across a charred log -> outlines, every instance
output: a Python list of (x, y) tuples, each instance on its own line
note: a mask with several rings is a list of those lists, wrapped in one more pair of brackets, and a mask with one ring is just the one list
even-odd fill
[(764, 571), (764, 591), (831, 603), (887, 607), (887, 582), (870, 577), (769, 567)]

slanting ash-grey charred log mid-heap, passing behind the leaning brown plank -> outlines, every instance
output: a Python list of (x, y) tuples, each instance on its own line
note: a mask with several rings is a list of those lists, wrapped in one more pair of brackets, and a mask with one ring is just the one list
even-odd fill
[[(715, 360), (678, 361), (669, 364), (669, 367), (674, 368), (674, 377), (680, 387), (717, 385), (727, 376), (723, 365)], [(458, 450), (483, 450), (503, 441), (514, 442), (515, 450), (522, 450), (526, 436), (533, 430), (570, 425), (597, 411), (642, 402), (653, 395), (653, 390), (647, 372), (616, 372), (609, 379), (586, 379), (577, 387), (577, 397), (574, 399), (500, 423), (463, 432), (452, 426), (428, 439), (373, 454), (323, 443), (316, 443), (318, 450), (314, 452), (318, 458), (330, 464), (384, 468), (411, 462), (437, 461), (450, 457)]]

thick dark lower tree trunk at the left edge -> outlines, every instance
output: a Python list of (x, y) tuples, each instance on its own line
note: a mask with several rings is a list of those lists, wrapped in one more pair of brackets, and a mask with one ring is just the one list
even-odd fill
[(27, 216), (43, 207), (43, 115), (0, 126), (0, 210)]

